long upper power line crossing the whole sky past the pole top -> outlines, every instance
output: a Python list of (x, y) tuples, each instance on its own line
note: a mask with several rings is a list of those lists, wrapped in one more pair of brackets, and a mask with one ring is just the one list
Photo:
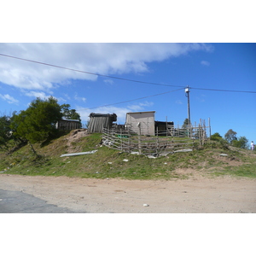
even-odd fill
[[(73, 69), (73, 68), (69, 68), (69, 67), (61, 67), (61, 66), (41, 62), (41, 61), (32, 61), (32, 60), (28, 60), (28, 59), (24, 59), (24, 58), (20, 58), (20, 57), (15, 57), (15, 56), (12, 56), (12, 55), (4, 55), (4, 54), (1, 54), (1, 53), (0, 53), (0, 55), (4, 56), (4, 57), (17, 59), (17, 60), (20, 60), (20, 61), (29, 61), (29, 62), (33, 62), (33, 63), (37, 63), (37, 64), (49, 66), (49, 67), (57, 67), (57, 68), (62, 68), (62, 69), (66, 69), (66, 70), (70, 70), (70, 71), (74, 71), (74, 72), (87, 73), (87, 74), (90, 74), (90, 75), (105, 77), (105, 78), (108, 78), (108, 79), (119, 79), (119, 80), (124, 80), (124, 81), (128, 81), (128, 82), (133, 82), (133, 83), (140, 83), (140, 84), (153, 84), (153, 85), (160, 85), (160, 86), (179, 87), (179, 88), (182, 88), (182, 89), (184, 88), (184, 86), (180, 86), (180, 85), (159, 84), (159, 83), (145, 82), (145, 81), (141, 81), (141, 80), (123, 79), (123, 78), (119, 78), (119, 77), (103, 75), (103, 74), (100, 74), (100, 73), (91, 73), (91, 72), (82, 71), (82, 70), (78, 70), (78, 69)], [(248, 90), (222, 90), (222, 89), (197, 88), (197, 87), (189, 87), (189, 88), (194, 89), (194, 90), (215, 90), (215, 91), (225, 91), (225, 92), (256, 93), (256, 91), (248, 91)]]

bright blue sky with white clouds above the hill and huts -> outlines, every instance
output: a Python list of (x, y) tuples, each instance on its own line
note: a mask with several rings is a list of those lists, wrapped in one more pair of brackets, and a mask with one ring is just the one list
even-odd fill
[(83, 123), (91, 112), (117, 113), (123, 124), (127, 112), (156, 111), (156, 120), (167, 117), (182, 125), (187, 118), (184, 88), (189, 85), (192, 122), (210, 118), (212, 133), (224, 137), (232, 129), (238, 137), (256, 141), (256, 94), (215, 91), (256, 91), (256, 44), (13, 43), (0, 44), (0, 54), (120, 78), (0, 55), (2, 114), (26, 109), (37, 96), (55, 96), (77, 109)]

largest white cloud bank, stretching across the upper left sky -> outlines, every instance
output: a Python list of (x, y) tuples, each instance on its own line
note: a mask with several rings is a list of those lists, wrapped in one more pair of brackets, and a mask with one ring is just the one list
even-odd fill
[[(208, 44), (0, 44), (0, 53), (90, 73), (148, 72), (147, 63), (190, 51), (211, 51)], [(69, 79), (97, 76), (0, 56), (0, 81), (20, 89), (49, 92)]]

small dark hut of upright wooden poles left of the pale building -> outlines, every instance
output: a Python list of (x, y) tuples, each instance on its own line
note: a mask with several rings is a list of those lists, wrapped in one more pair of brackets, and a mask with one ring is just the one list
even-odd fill
[(108, 130), (112, 128), (113, 122), (116, 122), (117, 115), (115, 113), (90, 113), (90, 121), (88, 131), (102, 132), (103, 128)]

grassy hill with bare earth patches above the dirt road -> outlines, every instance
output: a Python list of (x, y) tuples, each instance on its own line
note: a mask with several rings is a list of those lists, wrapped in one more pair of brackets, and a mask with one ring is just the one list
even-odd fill
[[(210, 141), (204, 148), (192, 152), (148, 159), (144, 155), (122, 153), (102, 146), (101, 139), (101, 134), (84, 133), (84, 136), (79, 137), (77, 131), (71, 131), (49, 143), (34, 145), (39, 157), (32, 154), (28, 145), (9, 155), (0, 151), (0, 172), (126, 179), (187, 178), (198, 174), (207, 177), (231, 175), (256, 178), (255, 151), (226, 147), (223, 143)], [(95, 154), (60, 157), (61, 154), (96, 149)]]

